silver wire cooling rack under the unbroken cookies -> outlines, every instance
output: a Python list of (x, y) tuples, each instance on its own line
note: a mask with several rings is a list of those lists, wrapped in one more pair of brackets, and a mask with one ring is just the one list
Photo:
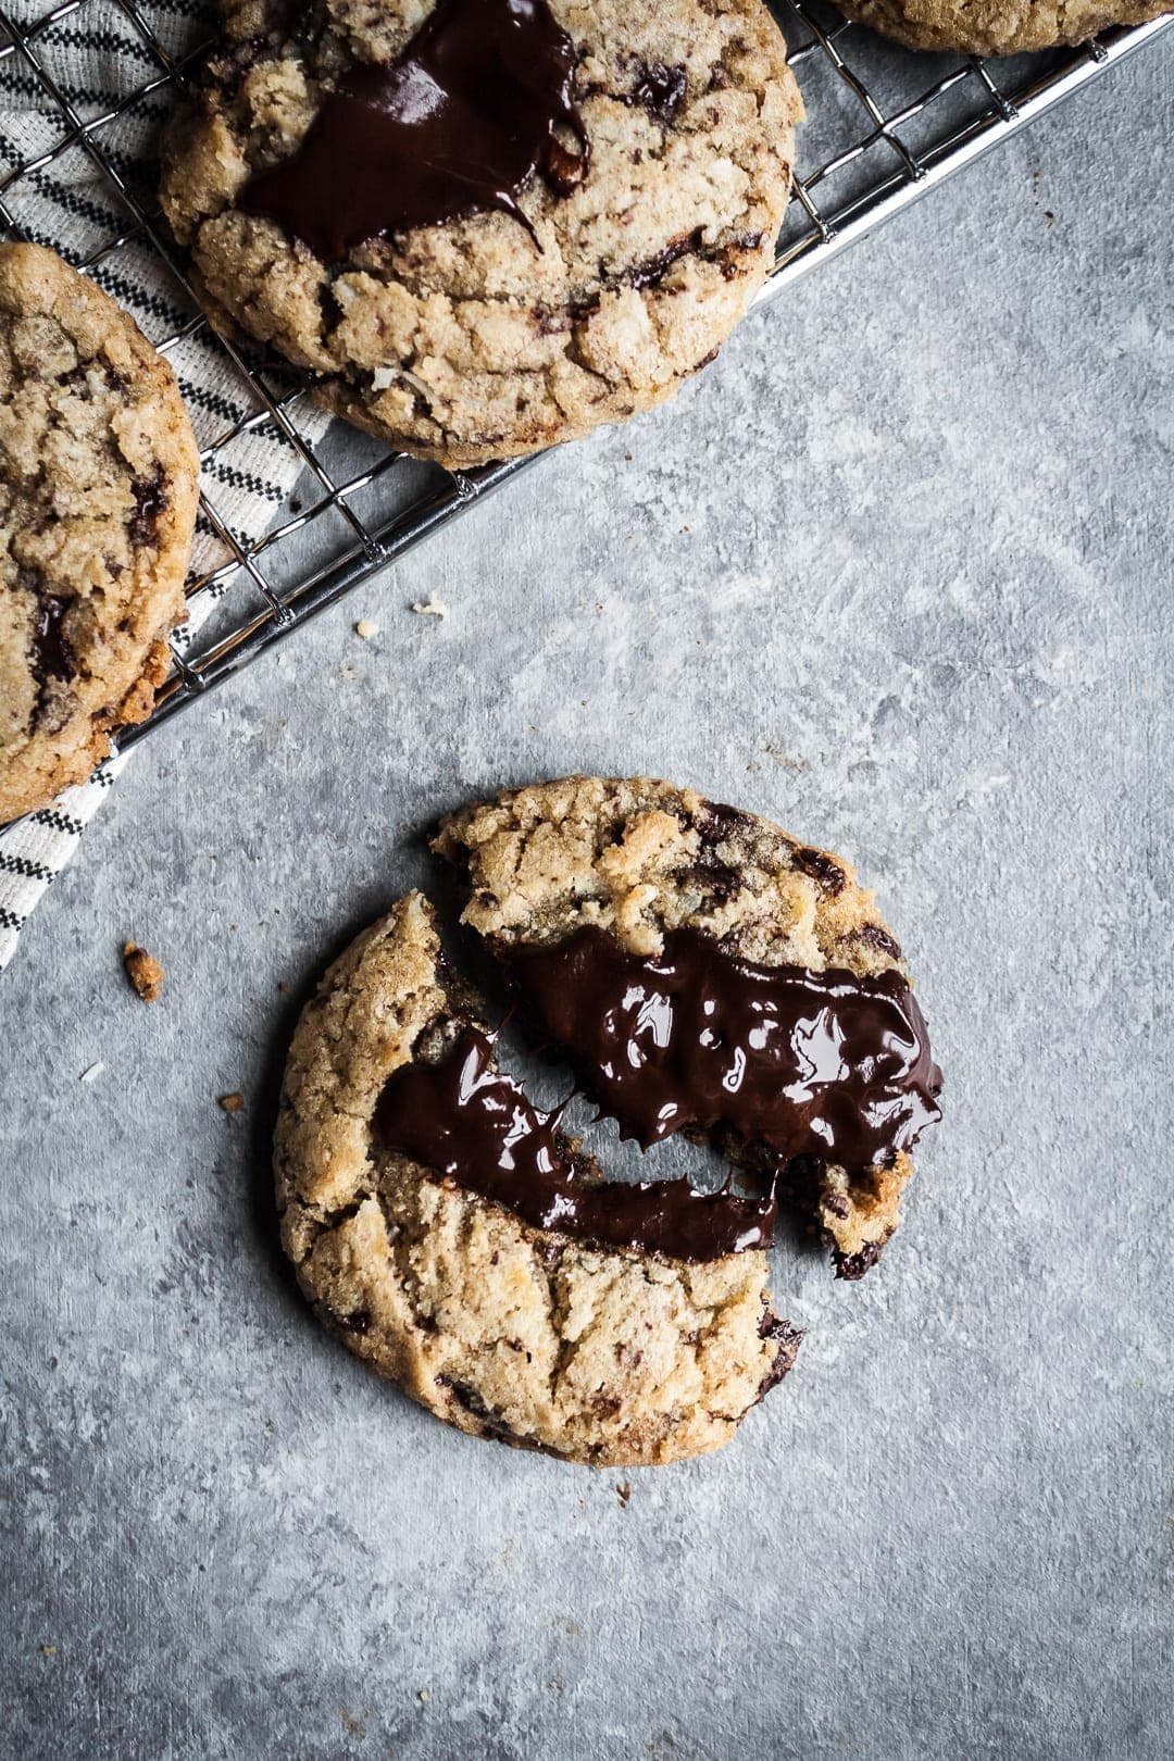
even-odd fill
[[(102, 28), (99, 7), (118, 16), (118, 55), (132, 67), (132, 76), (116, 104), (99, 102), (95, 111), (90, 102), (95, 95), (70, 92), (55, 65), (70, 44), (76, 49), (79, 30)], [(21, 11), (35, 11), (35, 5), (25, 4)], [(194, 574), (187, 586), (188, 599), (202, 611), (215, 602), (215, 615), (199, 623), (195, 637), (174, 645), (174, 669), (155, 711), (141, 727), (127, 731), (123, 747), (385, 569), (523, 463), (449, 472), (366, 440), (341, 423), (324, 430), (305, 380), (245, 345), (224, 342), (208, 328), (183, 255), (167, 238), (158, 213), (150, 144), (136, 153), (118, 144), (120, 125), (128, 118), (157, 123), (167, 113), (172, 88), (185, 83), (202, 48), (197, 30), (194, 49), (169, 49), (158, 28), (160, 14), (174, 25), (178, 16), (201, 11), (197, 0), (167, 0), (160, 7), (148, 0), (141, 5), (136, 0), (65, 0), (32, 21), (19, 21), (0, 5), (0, 70), (18, 58), (11, 67), (35, 81), (51, 116), (48, 137), (35, 151), (9, 153), (16, 162), (0, 166), (0, 225), (9, 236), (28, 236), (30, 227), (21, 220), (23, 194), (46, 169), (83, 153), (106, 197), (95, 213), (113, 211), (120, 224), (113, 236), (86, 241), (84, 248), (74, 236), (40, 236), (40, 241), (55, 245), (77, 268), (97, 271), (113, 292), (120, 289), (121, 254), (158, 252), (187, 315), (167, 335), (153, 336), (157, 347), (172, 354), (192, 338), (202, 338), (206, 347), (224, 354), (225, 372), (239, 375), (239, 398), (224, 400), (231, 419), (201, 454), (201, 523), (204, 537), (215, 537), (220, 560)], [(796, 195), (760, 299), (776, 298), (799, 275), (1174, 23), (1167, 18), (1135, 30), (1107, 32), (1077, 51), (984, 62), (912, 55), (847, 23), (820, 0), (773, 0), (773, 11), (787, 33), (808, 120), (799, 130)], [(127, 25), (128, 42), (123, 41)], [(139, 127), (134, 137), (150, 143), (150, 132)], [(86, 218), (84, 203), (76, 211)], [(93, 220), (93, 213), (88, 218)], [(290, 449), (290, 465), (301, 472), (297, 491), (282, 507), (262, 509), (257, 530), (234, 530), (216, 507), (216, 483), (232, 481), (232, 447), (262, 433)]]

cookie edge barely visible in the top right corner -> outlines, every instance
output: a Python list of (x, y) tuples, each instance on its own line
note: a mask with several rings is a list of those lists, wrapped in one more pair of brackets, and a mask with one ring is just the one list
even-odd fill
[(1024, 55), (1088, 42), (1111, 25), (1144, 25), (1170, 0), (834, 0), (841, 12), (910, 49)]

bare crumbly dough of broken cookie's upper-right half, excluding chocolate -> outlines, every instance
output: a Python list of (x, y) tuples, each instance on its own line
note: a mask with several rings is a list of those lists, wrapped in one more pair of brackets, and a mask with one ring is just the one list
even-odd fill
[[(463, 921), (500, 954), (595, 926), (655, 956), (671, 932), (701, 930), (764, 967), (908, 977), (843, 858), (667, 782), (569, 777), (507, 791), (447, 819), (433, 849), (461, 870)], [(722, 1148), (757, 1166), (753, 1146), (723, 1138)], [(829, 1162), (792, 1169), (840, 1277), (877, 1261), (912, 1173), (906, 1152), (855, 1175)]]

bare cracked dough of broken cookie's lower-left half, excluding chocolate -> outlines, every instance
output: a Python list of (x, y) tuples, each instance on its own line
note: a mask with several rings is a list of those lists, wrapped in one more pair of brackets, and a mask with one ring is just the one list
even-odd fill
[(356, 1356), (472, 1435), (597, 1467), (720, 1448), (799, 1342), (769, 1312), (766, 1254), (597, 1249), (378, 1141), (387, 1078), (470, 1020), (417, 893), (326, 974), (294, 1035), (275, 1145), (305, 1293)]

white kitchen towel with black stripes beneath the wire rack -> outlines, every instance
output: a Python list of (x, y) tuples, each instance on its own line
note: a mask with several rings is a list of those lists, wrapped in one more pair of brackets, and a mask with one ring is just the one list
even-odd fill
[[(273, 423), (250, 421), (264, 402), (199, 321), (118, 187), (157, 211), (155, 148), (176, 102), (172, 76), (213, 33), (204, 0), (0, 4), (0, 234), (49, 245), (132, 313), (171, 361), (201, 446), (202, 507), (180, 650), (231, 586), (224, 571), (232, 551), (218, 530), (253, 542), (303, 468)], [(327, 417), (299, 410), (297, 426), (313, 444)], [(195, 588), (213, 571), (220, 579)], [(0, 831), (0, 969), (125, 763), (107, 761), (90, 782)]]

